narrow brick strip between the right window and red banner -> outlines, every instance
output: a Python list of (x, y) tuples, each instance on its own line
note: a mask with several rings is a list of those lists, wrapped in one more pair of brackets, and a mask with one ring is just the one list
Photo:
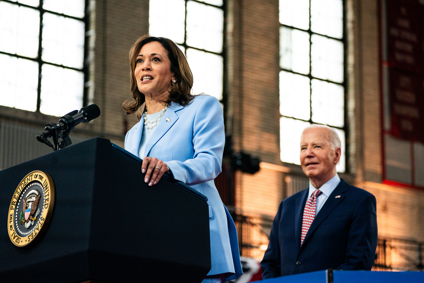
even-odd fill
[[(381, 119), (380, 119), (380, 75), (379, 75), (379, 23), (378, 1), (358, 1), (357, 40), (358, 83), (362, 85), (357, 93), (357, 134), (362, 138), (363, 178), (381, 181)], [(356, 45), (358, 43), (358, 45)], [(360, 130), (360, 132), (359, 132)], [(358, 150), (361, 150), (358, 148)]]

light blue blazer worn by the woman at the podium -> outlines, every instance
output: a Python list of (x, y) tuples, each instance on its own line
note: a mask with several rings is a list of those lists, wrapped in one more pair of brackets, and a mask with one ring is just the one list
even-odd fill
[[(125, 149), (138, 156), (143, 119), (128, 131)], [(196, 96), (191, 104), (170, 104), (147, 141), (144, 156), (157, 157), (173, 177), (208, 198), (212, 268), (225, 280), (243, 274), (234, 222), (223, 205), (214, 179), (221, 172), (225, 143), (221, 105), (215, 97)]]

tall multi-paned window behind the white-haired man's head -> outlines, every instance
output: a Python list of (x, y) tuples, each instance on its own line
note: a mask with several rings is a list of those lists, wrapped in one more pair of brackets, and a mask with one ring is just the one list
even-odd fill
[[(299, 138), (311, 123), (333, 127), (346, 171), (343, 0), (280, 0), (280, 157), (300, 164)], [(298, 151), (294, 149), (299, 149)]]

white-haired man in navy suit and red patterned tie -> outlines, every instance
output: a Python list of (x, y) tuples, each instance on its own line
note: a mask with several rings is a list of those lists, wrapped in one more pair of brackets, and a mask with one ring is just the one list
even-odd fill
[(338, 177), (340, 146), (338, 134), (328, 126), (311, 125), (302, 132), (300, 162), (309, 188), (279, 205), (261, 262), (264, 279), (323, 269), (371, 269), (376, 200)]

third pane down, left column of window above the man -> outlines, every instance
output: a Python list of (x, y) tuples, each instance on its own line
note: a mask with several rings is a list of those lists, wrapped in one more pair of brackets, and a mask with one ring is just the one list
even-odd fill
[(309, 120), (310, 84), (307, 76), (280, 72), (280, 114)]

